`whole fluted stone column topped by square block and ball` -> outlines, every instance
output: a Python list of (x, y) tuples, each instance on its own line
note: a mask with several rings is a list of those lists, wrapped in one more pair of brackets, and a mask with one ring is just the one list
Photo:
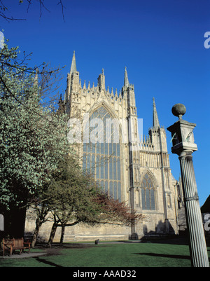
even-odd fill
[(193, 135), (196, 124), (182, 119), (186, 113), (186, 107), (183, 104), (175, 104), (172, 107), (172, 113), (174, 116), (179, 116), (179, 120), (167, 130), (172, 132), (172, 153), (178, 154), (180, 160), (191, 262), (193, 267), (209, 267), (192, 156), (193, 151), (197, 151)]

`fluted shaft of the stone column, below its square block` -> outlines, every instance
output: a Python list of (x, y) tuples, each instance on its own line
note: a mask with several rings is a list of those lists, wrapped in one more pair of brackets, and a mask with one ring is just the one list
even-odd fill
[(193, 151), (183, 151), (179, 156), (186, 219), (190, 238), (191, 263), (193, 267), (209, 267), (192, 153)]

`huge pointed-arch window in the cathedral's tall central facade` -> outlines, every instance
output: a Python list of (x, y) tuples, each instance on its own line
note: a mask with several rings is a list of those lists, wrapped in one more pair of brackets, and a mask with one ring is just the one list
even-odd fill
[(120, 140), (116, 123), (104, 107), (99, 107), (90, 116), (88, 127), (89, 139), (83, 143), (83, 170), (89, 170), (104, 191), (121, 200)]

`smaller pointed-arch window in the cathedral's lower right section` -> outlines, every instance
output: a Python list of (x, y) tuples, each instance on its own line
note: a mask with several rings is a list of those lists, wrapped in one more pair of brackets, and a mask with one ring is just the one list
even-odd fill
[(142, 210), (155, 210), (155, 187), (147, 173), (141, 182), (141, 200)]

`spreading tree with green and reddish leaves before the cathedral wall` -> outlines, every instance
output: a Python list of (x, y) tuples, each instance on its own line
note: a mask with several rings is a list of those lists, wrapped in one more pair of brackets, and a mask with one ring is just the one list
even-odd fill
[(49, 246), (55, 237), (57, 227), (62, 228), (60, 237), (62, 244), (66, 226), (76, 224), (130, 226), (144, 218), (142, 214), (131, 212), (125, 202), (120, 203), (119, 200), (104, 193), (92, 175), (84, 173), (72, 156), (62, 161), (62, 165), (54, 172), (48, 193), (50, 198), (48, 207), (53, 218)]

